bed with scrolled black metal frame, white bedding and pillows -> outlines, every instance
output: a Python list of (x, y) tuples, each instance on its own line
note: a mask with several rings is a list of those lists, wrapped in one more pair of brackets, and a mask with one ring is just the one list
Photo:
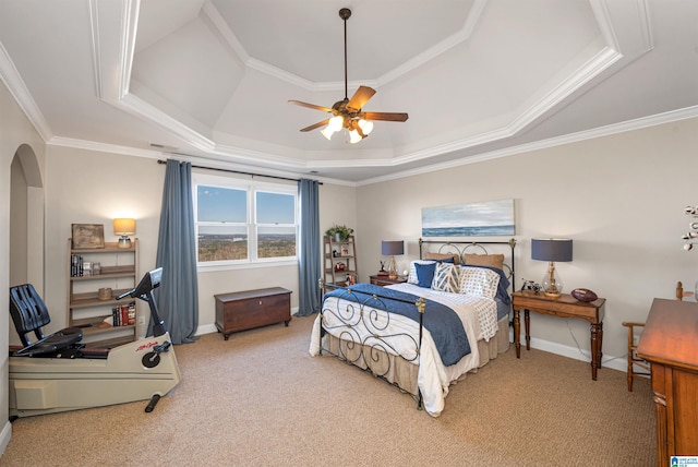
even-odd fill
[(515, 246), (420, 239), (406, 284), (321, 284), (310, 354), (371, 371), (438, 417), (452, 384), (509, 348)]

